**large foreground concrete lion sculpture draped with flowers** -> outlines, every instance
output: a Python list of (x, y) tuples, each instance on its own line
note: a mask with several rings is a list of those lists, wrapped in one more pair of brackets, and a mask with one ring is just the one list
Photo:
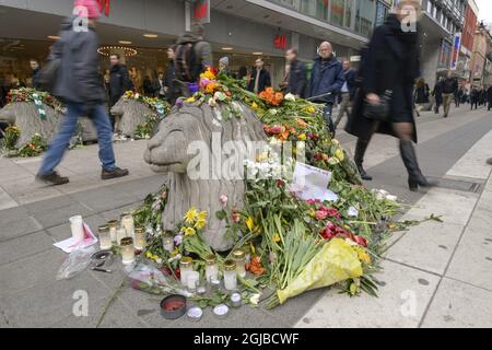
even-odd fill
[[(209, 222), (203, 230), (203, 238), (218, 252), (231, 249), (234, 244), (225, 237), (225, 222), (215, 218), (215, 212), (222, 209), (220, 197), (227, 196), (229, 203), (241, 209), (245, 190), (244, 177), (224, 175), (222, 167), (227, 160), (218, 153), (222, 151), (231, 155), (246, 144), (265, 145), (267, 142), (262, 124), (256, 115), (245, 105), (236, 106), (242, 110), (242, 117), (232, 116), (227, 120), (222, 118), (221, 107), (211, 108), (207, 104), (174, 107), (149, 141), (144, 155), (153, 171), (166, 174), (169, 194), (163, 213), (163, 229), (174, 230), (190, 208), (206, 210)], [(203, 148), (206, 151), (197, 156), (199, 149), (202, 151)], [(215, 151), (218, 148), (220, 150)], [(235, 166), (244, 170), (243, 162), (236, 162)]]

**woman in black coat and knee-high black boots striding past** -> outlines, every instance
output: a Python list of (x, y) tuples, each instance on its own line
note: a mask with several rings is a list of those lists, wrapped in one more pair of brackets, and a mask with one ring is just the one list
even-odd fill
[[(431, 184), (422, 175), (417, 162), (412, 142), (417, 142), (417, 129), (413, 118), (413, 83), (419, 77), (420, 45), (419, 31), (402, 27), (406, 19), (405, 5), (412, 5), (420, 13), (420, 5), (414, 0), (398, 3), (396, 13), (391, 13), (385, 24), (374, 31), (367, 50), (363, 54), (362, 85), (355, 97), (352, 115), (347, 125), (347, 132), (359, 137), (354, 161), (364, 179), (371, 180), (362, 164), (367, 144), (374, 132), (391, 135), (400, 140), (400, 153), (409, 174), (409, 187), (414, 191), (419, 186)], [(415, 23), (413, 23), (415, 24)], [(380, 95), (391, 92), (390, 117), (378, 122), (364, 117), (364, 101), (377, 105)]]

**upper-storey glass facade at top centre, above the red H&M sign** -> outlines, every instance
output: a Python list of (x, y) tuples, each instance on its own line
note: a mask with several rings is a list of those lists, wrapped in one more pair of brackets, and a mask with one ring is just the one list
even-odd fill
[(269, 0), (326, 23), (370, 36), (376, 0)]

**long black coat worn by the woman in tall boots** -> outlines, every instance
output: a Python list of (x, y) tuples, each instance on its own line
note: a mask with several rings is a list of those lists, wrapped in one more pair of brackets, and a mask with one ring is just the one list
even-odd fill
[[(352, 114), (347, 124), (347, 132), (368, 140), (375, 129), (374, 121), (363, 115), (365, 96), (370, 93), (382, 95), (393, 91), (390, 120), (402, 115), (413, 124), (412, 139), (417, 142), (413, 118), (413, 83), (419, 77), (419, 33), (401, 31), (395, 15), (389, 15), (385, 24), (376, 27), (368, 48), (362, 58), (362, 86), (358, 90)], [(397, 94), (395, 92), (398, 92)], [(380, 122), (376, 132), (396, 137), (391, 121)]]

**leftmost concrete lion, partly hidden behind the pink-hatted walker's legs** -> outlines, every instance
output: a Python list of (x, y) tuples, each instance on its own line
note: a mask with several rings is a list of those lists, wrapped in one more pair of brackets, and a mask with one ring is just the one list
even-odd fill
[[(0, 109), (0, 121), (16, 125), (21, 130), (17, 140), (17, 148), (22, 148), (31, 142), (35, 133), (39, 133), (48, 142), (51, 140), (59, 124), (63, 120), (63, 115), (52, 107), (44, 104), (46, 118), (42, 119), (34, 102), (13, 102)], [(82, 140), (96, 141), (97, 132), (92, 121), (82, 117), (79, 119), (82, 126)]]

